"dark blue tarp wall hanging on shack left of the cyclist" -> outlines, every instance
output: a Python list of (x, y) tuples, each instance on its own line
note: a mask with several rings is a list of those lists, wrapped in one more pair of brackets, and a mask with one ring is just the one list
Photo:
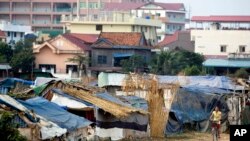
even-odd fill
[(181, 132), (186, 123), (196, 123), (197, 130), (207, 130), (201, 122), (207, 121), (215, 106), (222, 111), (222, 120), (229, 111), (225, 94), (229, 91), (211, 87), (184, 87), (175, 96), (167, 125), (167, 134)]

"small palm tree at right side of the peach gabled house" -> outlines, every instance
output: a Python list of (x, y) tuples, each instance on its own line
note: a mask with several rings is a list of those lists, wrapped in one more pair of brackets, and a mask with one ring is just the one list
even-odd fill
[(73, 58), (68, 58), (68, 62), (77, 63), (77, 71), (79, 76), (82, 76), (81, 72), (84, 71), (84, 75), (87, 74), (87, 66), (89, 62), (88, 56), (85, 54), (75, 55)]

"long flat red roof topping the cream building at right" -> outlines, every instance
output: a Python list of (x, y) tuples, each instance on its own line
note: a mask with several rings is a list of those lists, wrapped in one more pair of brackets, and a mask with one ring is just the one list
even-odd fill
[(217, 16), (193, 16), (191, 21), (194, 22), (242, 22), (249, 23), (250, 16), (237, 15), (217, 15)]

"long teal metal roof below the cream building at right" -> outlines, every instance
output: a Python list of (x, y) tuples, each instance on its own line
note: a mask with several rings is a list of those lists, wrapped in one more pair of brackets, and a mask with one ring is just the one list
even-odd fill
[(208, 59), (203, 62), (205, 67), (250, 68), (250, 60)]

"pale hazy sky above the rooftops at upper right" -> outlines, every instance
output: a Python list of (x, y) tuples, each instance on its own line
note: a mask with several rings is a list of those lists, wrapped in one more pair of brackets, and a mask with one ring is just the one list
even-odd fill
[(155, 0), (164, 3), (184, 3), (191, 16), (250, 15), (250, 0)]

